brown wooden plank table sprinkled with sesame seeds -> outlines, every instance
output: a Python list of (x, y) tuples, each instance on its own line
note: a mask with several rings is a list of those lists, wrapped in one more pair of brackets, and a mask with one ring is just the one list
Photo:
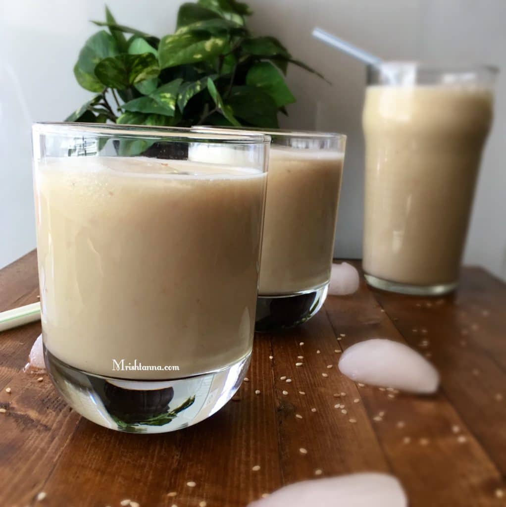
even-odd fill
[[(34, 252), (0, 271), (0, 309), (37, 295)], [(4, 332), (0, 505), (104, 507), (129, 498), (141, 507), (244, 507), (318, 469), (321, 477), (394, 474), (411, 507), (505, 505), (505, 309), (506, 286), (477, 268), (464, 269), (459, 291), (440, 299), (373, 291), (362, 282), (352, 296), (329, 297), (302, 327), (257, 336), (250, 381), (219, 413), (150, 436), (97, 426), (65, 405), (47, 376), (38, 382), (23, 373), (40, 323)], [(395, 395), (342, 376), (340, 352), (370, 337), (425, 353), (441, 372), (440, 392)], [(295, 366), (299, 355), (302, 367)], [(37, 501), (42, 491), (47, 496)]]

